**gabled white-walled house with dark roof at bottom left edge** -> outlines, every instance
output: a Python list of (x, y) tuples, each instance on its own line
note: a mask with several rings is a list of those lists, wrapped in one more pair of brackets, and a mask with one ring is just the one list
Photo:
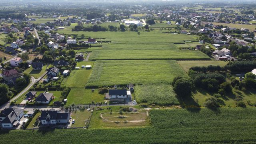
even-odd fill
[(23, 109), (6, 108), (0, 113), (0, 124), (2, 128), (12, 128), (18, 125), (19, 120), (24, 115)]

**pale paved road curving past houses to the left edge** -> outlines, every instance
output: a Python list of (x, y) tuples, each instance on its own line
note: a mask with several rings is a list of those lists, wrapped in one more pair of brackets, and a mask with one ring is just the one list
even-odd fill
[[(9, 108), (10, 107), (10, 102), (18, 99), (20, 96), (22, 96), (26, 91), (28, 91), (36, 82), (38, 82), (45, 74), (47, 73), (44, 72), (44, 74), (42, 74), (42, 76), (40, 76), (38, 79), (35, 79), (33, 76), (31, 76), (31, 82), (30, 84), (28, 84), (28, 86), (26, 88), (24, 88), (19, 94), (17, 94), (16, 96), (14, 96), (12, 99), (9, 100), (9, 102), (6, 102), (5, 104), (3, 104), (2, 106), (0, 106), (0, 110), (3, 110), (5, 108)], [(16, 107), (16, 106), (14, 106)]]

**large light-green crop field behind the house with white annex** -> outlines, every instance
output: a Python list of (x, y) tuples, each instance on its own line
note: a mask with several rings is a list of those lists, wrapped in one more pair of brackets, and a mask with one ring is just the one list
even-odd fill
[(187, 77), (174, 60), (96, 61), (86, 86), (170, 84), (175, 76)]

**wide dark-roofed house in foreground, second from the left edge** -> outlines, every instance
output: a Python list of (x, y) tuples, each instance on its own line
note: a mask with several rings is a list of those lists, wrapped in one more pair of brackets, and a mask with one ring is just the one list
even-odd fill
[(42, 125), (67, 124), (70, 119), (68, 112), (58, 112), (54, 109), (42, 111), (40, 121)]

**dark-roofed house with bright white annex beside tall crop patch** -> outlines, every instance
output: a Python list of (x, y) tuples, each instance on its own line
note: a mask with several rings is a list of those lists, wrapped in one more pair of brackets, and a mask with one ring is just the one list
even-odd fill
[(126, 89), (111, 89), (108, 90), (109, 98), (130, 98), (131, 92)]

